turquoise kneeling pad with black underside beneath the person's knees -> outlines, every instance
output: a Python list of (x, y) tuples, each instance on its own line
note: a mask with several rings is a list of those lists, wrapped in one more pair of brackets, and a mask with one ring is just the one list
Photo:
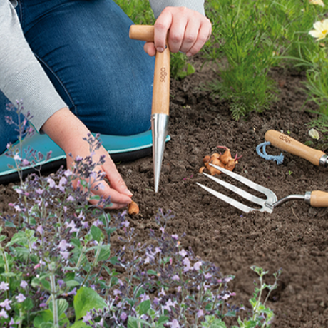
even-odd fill
[[(130, 160), (136, 160), (143, 158), (152, 153), (153, 138), (151, 130), (136, 135), (100, 135), (101, 143), (103, 147), (111, 155), (114, 162), (126, 162)], [(168, 135), (165, 141), (170, 140)], [(24, 150), (28, 149), (36, 150), (43, 154), (44, 158), (49, 151), (51, 151), (51, 158), (49, 160), (41, 160), (35, 166), (41, 167), (41, 172), (51, 172), (58, 169), (61, 165), (66, 165), (66, 155), (63, 150), (58, 147), (56, 143), (51, 140), (46, 134), (35, 133), (31, 138), (25, 138), (22, 141), (23, 155), (25, 157)], [(0, 184), (9, 183), (18, 180), (19, 175), (15, 169), (11, 169), (8, 165), (12, 165), (15, 168), (14, 159), (6, 156), (6, 152), (0, 155)], [(23, 169), (23, 176), (29, 175), (35, 172), (35, 169), (31, 166)]]

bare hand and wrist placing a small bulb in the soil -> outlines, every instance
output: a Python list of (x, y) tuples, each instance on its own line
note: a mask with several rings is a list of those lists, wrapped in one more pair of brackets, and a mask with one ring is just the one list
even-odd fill
[[(62, 108), (56, 111), (56, 113), (44, 123), (42, 130), (66, 153), (68, 169), (72, 170), (74, 160), (77, 156), (86, 158), (92, 155), (93, 163), (98, 163), (101, 156), (103, 156), (104, 163), (96, 165), (93, 172), (96, 174), (99, 171), (103, 173), (104, 178), (108, 179), (109, 185), (103, 180), (100, 188), (91, 187), (91, 193), (103, 196), (103, 198), (110, 197), (111, 203), (113, 204), (110, 208), (113, 210), (125, 207), (131, 203), (132, 193), (130, 193), (126, 187), (120, 173), (118, 173), (116, 165), (108, 155), (108, 152), (101, 146), (91, 153), (89, 143), (83, 140), (83, 138), (88, 138), (90, 131), (68, 108)], [(78, 180), (74, 182), (75, 186), (77, 183)], [(90, 202), (95, 205), (98, 203), (97, 200), (90, 200)]]

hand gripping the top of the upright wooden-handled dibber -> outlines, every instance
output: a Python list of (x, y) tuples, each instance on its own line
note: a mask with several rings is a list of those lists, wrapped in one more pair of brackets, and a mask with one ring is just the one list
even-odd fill
[(150, 56), (163, 52), (166, 39), (170, 51), (182, 51), (193, 56), (210, 39), (212, 24), (203, 14), (185, 7), (166, 7), (156, 19), (154, 42), (146, 42), (144, 49)]

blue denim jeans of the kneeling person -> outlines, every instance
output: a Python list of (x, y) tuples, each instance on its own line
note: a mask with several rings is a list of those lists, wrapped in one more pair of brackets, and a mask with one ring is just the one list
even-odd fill
[[(91, 132), (134, 135), (150, 128), (154, 58), (143, 51), (143, 41), (129, 39), (133, 23), (114, 1), (18, 2), (32, 51)], [(8, 102), (0, 91), (0, 153), (17, 140), (14, 125), (2, 119), (11, 114)]]

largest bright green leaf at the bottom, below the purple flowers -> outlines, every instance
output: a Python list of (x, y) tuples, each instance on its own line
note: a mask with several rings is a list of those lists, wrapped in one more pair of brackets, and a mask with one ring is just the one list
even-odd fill
[(81, 287), (74, 296), (73, 306), (76, 314), (76, 322), (86, 315), (91, 309), (103, 309), (106, 302), (96, 291), (89, 287)]

